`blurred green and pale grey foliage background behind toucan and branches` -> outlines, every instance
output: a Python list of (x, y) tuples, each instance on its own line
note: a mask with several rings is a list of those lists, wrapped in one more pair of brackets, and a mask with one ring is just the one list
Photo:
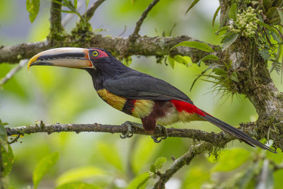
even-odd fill
[[(85, 10), (82, 1), (80, 11)], [(92, 4), (93, 1), (90, 1)], [(142, 11), (151, 3), (138, 0), (132, 5), (130, 0), (107, 0), (91, 19), (93, 29), (103, 28), (102, 35), (120, 35), (125, 25), (127, 30), (122, 37), (132, 33)], [(219, 45), (220, 39), (214, 35), (219, 27), (212, 27), (214, 11), (219, 2), (200, 1), (187, 15), (185, 11), (191, 1), (160, 1), (141, 26), (141, 35), (156, 36), (163, 31), (168, 33), (176, 23), (173, 35), (189, 35), (192, 38)], [(50, 28), (51, 1), (40, 1), (40, 12), (34, 23), (30, 23), (25, 1), (0, 1), (0, 45), (17, 45), (22, 42), (45, 40)], [(62, 13), (64, 18), (66, 13)], [(216, 19), (217, 20), (217, 19)], [(78, 21), (74, 16), (66, 25), (69, 32)], [(190, 86), (197, 74), (206, 69), (191, 64), (175, 64), (172, 69), (164, 63), (157, 64), (154, 57), (132, 57), (129, 67), (151, 74), (173, 84), (187, 93), (194, 103), (208, 113), (231, 125), (254, 121), (255, 108), (244, 96), (235, 96), (233, 101), (226, 96), (212, 93), (212, 84), (197, 81), (192, 91)], [(16, 64), (0, 64), (0, 78), (4, 77)], [(282, 91), (280, 76), (272, 74), (272, 79)], [(59, 67), (33, 67), (30, 73), (24, 67), (0, 90), (0, 119), (10, 127), (33, 125), (35, 120), (47, 124), (93, 123), (120, 125), (126, 120), (140, 122), (104, 103), (93, 88), (91, 77), (85, 71)], [(206, 122), (178, 123), (172, 127), (193, 128), (207, 132), (219, 129)], [(104, 133), (54, 133), (26, 134), (21, 143), (12, 144), (15, 163), (9, 175), (9, 182), (15, 188), (32, 185), (33, 170), (40, 159), (53, 151), (59, 152), (59, 161), (42, 179), (39, 188), (54, 188), (69, 181), (86, 181), (98, 188), (126, 188), (136, 176), (149, 171), (158, 157), (166, 157), (163, 168), (189, 149), (191, 139), (168, 138), (155, 144), (149, 136), (120, 139), (119, 134)], [(168, 182), (167, 188), (210, 187), (223, 181), (229, 182), (246, 173), (253, 167), (253, 159), (264, 154), (279, 163), (283, 155), (272, 155), (260, 149), (233, 141), (223, 151), (218, 162), (201, 154), (185, 166)], [(283, 171), (274, 174), (275, 188), (283, 185)], [(233, 180), (233, 179), (232, 179)], [(149, 186), (154, 179), (149, 181)], [(255, 181), (248, 182), (253, 187)]]

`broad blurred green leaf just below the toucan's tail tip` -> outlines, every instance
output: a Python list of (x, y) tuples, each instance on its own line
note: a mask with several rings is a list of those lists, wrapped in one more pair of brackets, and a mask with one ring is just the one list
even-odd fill
[[(221, 153), (219, 163), (212, 168), (212, 171), (232, 171), (248, 161), (250, 156), (250, 151), (246, 149), (226, 149)], [(212, 157), (209, 158), (212, 159)]]

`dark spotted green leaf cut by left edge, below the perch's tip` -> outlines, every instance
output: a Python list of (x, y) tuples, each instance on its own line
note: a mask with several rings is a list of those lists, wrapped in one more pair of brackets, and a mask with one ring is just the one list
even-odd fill
[(2, 157), (2, 166), (4, 168), (3, 176), (7, 176), (10, 173), (11, 168), (13, 166), (13, 151), (10, 145), (8, 145), (8, 152), (1, 147), (1, 157)]

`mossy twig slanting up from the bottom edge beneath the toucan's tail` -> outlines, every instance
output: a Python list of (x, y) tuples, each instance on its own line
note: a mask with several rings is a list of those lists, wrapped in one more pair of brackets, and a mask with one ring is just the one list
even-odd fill
[(174, 163), (168, 168), (164, 173), (159, 173), (159, 179), (154, 185), (154, 189), (165, 188), (166, 182), (176, 173), (180, 168), (185, 166), (185, 164), (189, 165), (192, 159), (195, 158), (198, 154), (201, 154), (204, 151), (212, 148), (213, 144), (208, 142), (202, 142), (197, 145), (192, 145), (190, 150), (187, 151), (186, 154), (180, 156), (180, 158), (176, 159)]

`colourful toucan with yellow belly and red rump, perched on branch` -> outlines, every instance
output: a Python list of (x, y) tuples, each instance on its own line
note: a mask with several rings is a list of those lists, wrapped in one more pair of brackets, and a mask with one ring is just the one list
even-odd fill
[(207, 120), (252, 147), (276, 153), (250, 135), (197, 108), (185, 93), (166, 81), (126, 67), (107, 50), (75, 47), (46, 50), (28, 62), (28, 68), (35, 65), (85, 69), (93, 79), (98, 96), (113, 108), (140, 118), (146, 132), (153, 133), (156, 124)]

